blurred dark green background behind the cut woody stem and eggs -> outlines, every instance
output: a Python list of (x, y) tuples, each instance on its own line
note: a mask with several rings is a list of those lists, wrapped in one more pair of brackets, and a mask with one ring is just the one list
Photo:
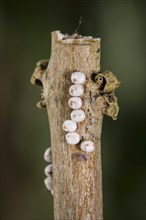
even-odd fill
[[(35, 63), (50, 56), (55, 30), (101, 37), (101, 71), (122, 82), (117, 121), (102, 132), (105, 220), (144, 220), (145, 1), (1, 1), (1, 220), (53, 220), (43, 184), (50, 145), (46, 110), (30, 84)], [(69, 220), (69, 219), (68, 219)]]

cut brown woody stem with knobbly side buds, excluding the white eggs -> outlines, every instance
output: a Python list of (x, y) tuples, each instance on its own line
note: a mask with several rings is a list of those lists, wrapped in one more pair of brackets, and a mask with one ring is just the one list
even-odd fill
[[(74, 71), (81, 71), (86, 75), (82, 96), (82, 109), (86, 118), (78, 123), (77, 133), (80, 134), (81, 141), (94, 142), (95, 150), (90, 153), (80, 149), (81, 142), (76, 145), (68, 144), (66, 133), (62, 129), (63, 122), (70, 119), (68, 99), (69, 87), (72, 85), (70, 78)], [(68, 36), (55, 31), (52, 33), (52, 51), (47, 69), (41, 68), (39, 63), (31, 78), (33, 84), (41, 84), (43, 87), (43, 100), (39, 102), (39, 106), (45, 103), (49, 117), (55, 220), (103, 219), (102, 120), (103, 114), (113, 119), (117, 117), (118, 105), (114, 90), (119, 82), (117, 80), (117, 84), (111, 88), (108, 83), (112, 78), (111, 73), (105, 72), (102, 77), (104, 76), (106, 85), (104, 83), (103, 86), (103, 81), (100, 84), (95, 77), (99, 71), (99, 38), (77, 34)]]

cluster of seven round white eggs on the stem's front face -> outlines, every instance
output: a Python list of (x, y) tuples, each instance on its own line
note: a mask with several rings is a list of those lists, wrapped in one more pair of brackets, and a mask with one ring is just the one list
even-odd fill
[[(68, 100), (68, 105), (72, 110), (69, 120), (65, 120), (62, 129), (67, 132), (66, 141), (68, 144), (78, 144), (81, 140), (80, 134), (76, 132), (79, 122), (86, 118), (85, 112), (81, 109), (83, 100), (81, 96), (84, 94), (84, 83), (86, 76), (83, 72), (73, 72), (71, 74), (71, 81), (73, 85), (69, 88), (71, 98)], [(81, 142), (80, 148), (82, 151), (91, 152), (94, 150), (94, 143), (92, 141), (84, 140)]]

